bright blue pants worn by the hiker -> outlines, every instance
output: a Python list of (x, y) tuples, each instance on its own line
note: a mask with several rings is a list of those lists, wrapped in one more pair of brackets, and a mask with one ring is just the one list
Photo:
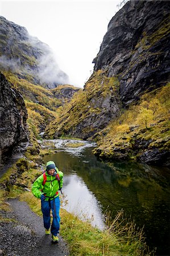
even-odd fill
[[(55, 205), (54, 205), (55, 204)], [(55, 207), (55, 209), (54, 209)], [(49, 200), (49, 201), (43, 201), (42, 200), (42, 212), (43, 212), (43, 220), (44, 220), (44, 228), (49, 229), (50, 227), (50, 210), (52, 210), (52, 225), (51, 225), (51, 234), (53, 236), (57, 236), (57, 233), (59, 233), (60, 229), (60, 216), (59, 216), (59, 210), (60, 210), (60, 199), (59, 196), (56, 198)]]

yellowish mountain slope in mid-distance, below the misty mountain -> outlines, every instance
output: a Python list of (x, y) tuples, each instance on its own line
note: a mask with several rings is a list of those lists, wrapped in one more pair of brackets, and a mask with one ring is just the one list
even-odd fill
[(55, 89), (47, 89), (25, 79), (19, 79), (11, 72), (3, 71), (3, 73), (13, 87), (22, 94), (28, 111), (27, 123), (36, 138), (60, 115), (63, 105), (71, 100), (73, 94), (80, 90), (72, 85), (59, 85)]

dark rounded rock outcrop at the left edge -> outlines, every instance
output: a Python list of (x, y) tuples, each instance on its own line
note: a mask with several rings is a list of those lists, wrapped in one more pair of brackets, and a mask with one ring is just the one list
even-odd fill
[(28, 142), (27, 110), (21, 94), (0, 74), (0, 164), (16, 146)]

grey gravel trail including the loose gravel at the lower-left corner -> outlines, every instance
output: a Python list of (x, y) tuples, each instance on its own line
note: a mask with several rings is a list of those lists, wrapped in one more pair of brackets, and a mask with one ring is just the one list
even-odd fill
[[(2, 243), (6, 246), (7, 256), (65, 256), (69, 255), (67, 244), (59, 236), (59, 243), (51, 242), (51, 235), (45, 235), (43, 218), (31, 211), (26, 202), (10, 199), (17, 223), (8, 222), (1, 226)], [(10, 213), (9, 213), (10, 214)], [(8, 217), (8, 216), (7, 216)], [(12, 217), (12, 216), (10, 216)], [(6, 229), (9, 232), (7, 236)], [(5, 236), (4, 236), (5, 234)], [(3, 239), (4, 238), (4, 239)], [(11, 253), (9, 250), (13, 249)], [(3, 247), (4, 249), (4, 247)]]

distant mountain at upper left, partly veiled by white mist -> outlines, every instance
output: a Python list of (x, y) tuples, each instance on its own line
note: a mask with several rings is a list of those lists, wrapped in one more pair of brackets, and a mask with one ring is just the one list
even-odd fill
[(67, 84), (47, 44), (30, 36), (26, 28), (0, 16), (0, 67), (47, 88)]

